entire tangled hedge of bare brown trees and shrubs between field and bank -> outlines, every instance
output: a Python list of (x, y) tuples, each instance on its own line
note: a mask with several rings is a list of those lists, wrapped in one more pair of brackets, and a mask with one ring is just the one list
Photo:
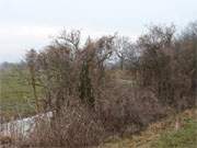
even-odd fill
[[(95, 146), (112, 135), (140, 132), (170, 107), (195, 106), (197, 23), (181, 35), (172, 25), (151, 26), (136, 43), (117, 38), (89, 38), (81, 46), (79, 31), (63, 32), (43, 52), (27, 53), (36, 112), (54, 116), (38, 121), (19, 146)], [(119, 61), (108, 66), (114, 56)], [(119, 69), (130, 79), (112, 73)]]

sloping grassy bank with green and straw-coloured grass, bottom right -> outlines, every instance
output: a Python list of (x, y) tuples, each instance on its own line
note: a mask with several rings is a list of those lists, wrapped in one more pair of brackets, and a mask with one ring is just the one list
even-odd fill
[[(196, 110), (171, 115), (161, 122), (151, 124), (139, 135), (124, 138), (112, 137), (100, 148), (196, 148), (197, 116)], [(175, 118), (181, 127), (175, 129)]]

